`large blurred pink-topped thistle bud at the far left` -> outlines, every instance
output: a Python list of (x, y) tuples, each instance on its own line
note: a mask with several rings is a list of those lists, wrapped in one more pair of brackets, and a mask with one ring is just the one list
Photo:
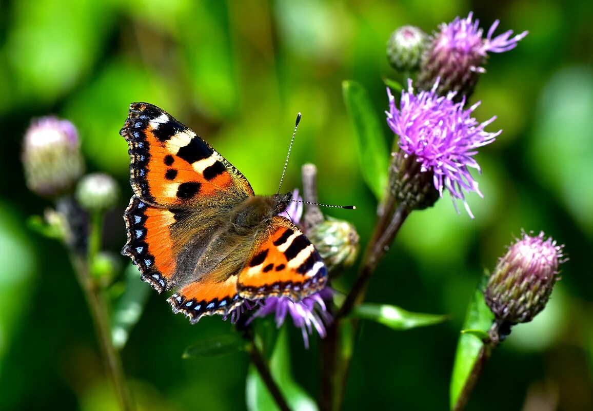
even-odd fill
[(23, 165), (32, 192), (44, 197), (68, 193), (84, 168), (74, 125), (56, 117), (34, 120), (25, 133)]

